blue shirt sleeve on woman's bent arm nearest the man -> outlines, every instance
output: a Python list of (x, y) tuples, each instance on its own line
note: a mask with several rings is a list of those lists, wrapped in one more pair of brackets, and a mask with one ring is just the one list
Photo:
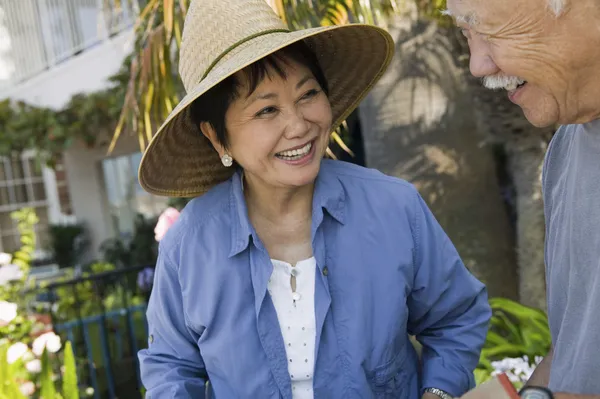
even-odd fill
[(460, 397), (475, 386), (473, 370), (491, 317), (487, 290), (418, 193), (415, 202), (415, 273), (407, 303), (409, 333), (423, 345), (421, 389)]

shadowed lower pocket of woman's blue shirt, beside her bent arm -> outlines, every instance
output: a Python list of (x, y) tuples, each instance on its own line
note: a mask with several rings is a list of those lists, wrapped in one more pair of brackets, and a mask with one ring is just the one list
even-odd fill
[(376, 367), (370, 373), (375, 399), (407, 399), (410, 387), (405, 363), (408, 356), (402, 351), (392, 361)]

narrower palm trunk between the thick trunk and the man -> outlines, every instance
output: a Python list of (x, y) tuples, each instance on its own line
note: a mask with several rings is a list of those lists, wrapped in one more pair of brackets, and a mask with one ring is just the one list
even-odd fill
[(541, 170), (554, 128), (533, 127), (523, 111), (508, 100), (506, 93), (483, 88), (479, 79), (470, 79), (470, 86), (477, 100), (482, 131), (488, 140), (503, 147), (507, 158), (506, 169), (512, 186), (508, 197), (516, 215), (514, 230), (519, 301), (545, 310), (545, 222)]

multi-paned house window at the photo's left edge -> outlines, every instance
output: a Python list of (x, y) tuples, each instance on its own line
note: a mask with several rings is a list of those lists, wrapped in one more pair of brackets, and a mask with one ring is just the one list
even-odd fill
[(39, 218), (37, 247), (48, 243), (48, 199), (42, 166), (33, 156), (0, 158), (0, 251), (15, 252), (21, 246), (13, 211), (32, 207)]

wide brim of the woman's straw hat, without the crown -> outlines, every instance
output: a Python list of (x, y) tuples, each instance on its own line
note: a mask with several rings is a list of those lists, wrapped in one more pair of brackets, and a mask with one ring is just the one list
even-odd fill
[(190, 104), (229, 76), (300, 40), (314, 51), (327, 79), (332, 130), (358, 106), (394, 54), (389, 33), (363, 24), (271, 33), (249, 40), (223, 57), (167, 117), (142, 157), (140, 185), (154, 195), (195, 197), (228, 179), (232, 168), (221, 164), (210, 141), (192, 123)]

